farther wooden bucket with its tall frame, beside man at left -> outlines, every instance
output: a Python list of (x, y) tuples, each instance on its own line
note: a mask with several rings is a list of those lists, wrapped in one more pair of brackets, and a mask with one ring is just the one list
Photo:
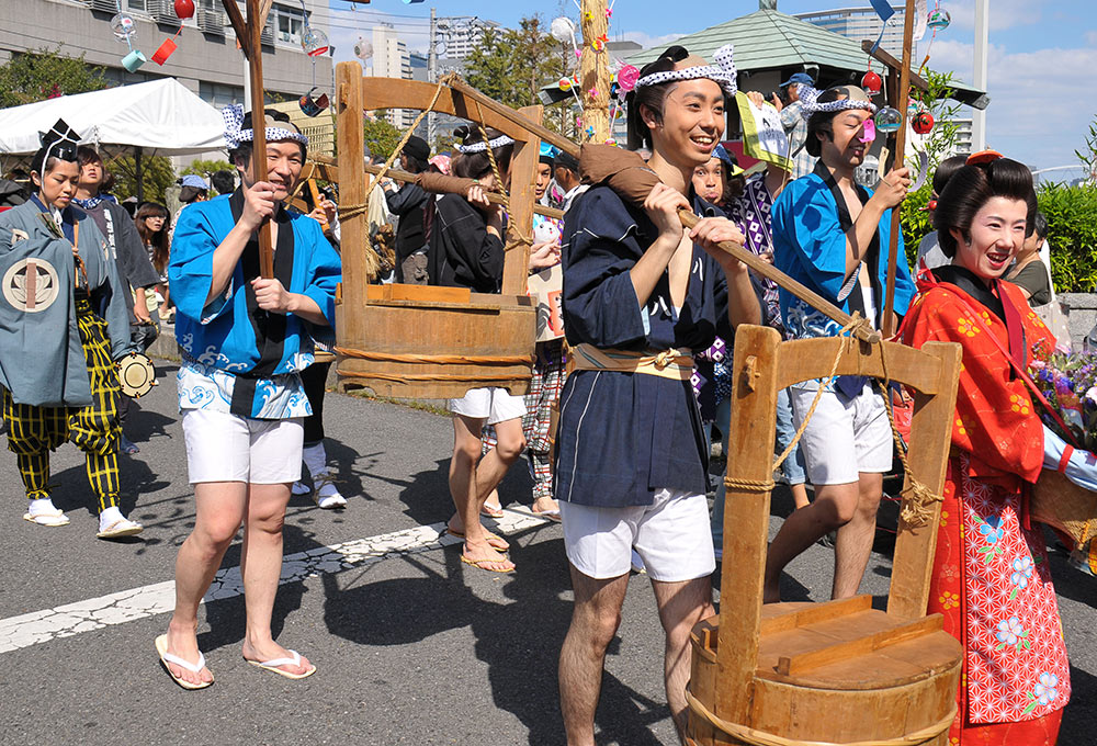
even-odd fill
[[(502, 116), (474, 91), (445, 83), (362, 76), (358, 63), (336, 66), (339, 203), (342, 219), (341, 293), (336, 306), (339, 387), (369, 387), (383, 396), (457, 398), (470, 388), (529, 388), (536, 309), (525, 295), (533, 233), (533, 187), (541, 140), (541, 106)], [(462, 84), (462, 89), (464, 89)], [(478, 94), (483, 97), (483, 94)], [(490, 101), (490, 100), (488, 100)], [(433, 102), (433, 106), (431, 106)], [(422, 285), (371, 285), (365, 251), (370, 226), (362, 210), (372, 181), (364, 169), (362, 112), (431, 109), (494, 127), (514, 139), (502, 294)], [(522, 123), (529, 123), (524, 126)]]

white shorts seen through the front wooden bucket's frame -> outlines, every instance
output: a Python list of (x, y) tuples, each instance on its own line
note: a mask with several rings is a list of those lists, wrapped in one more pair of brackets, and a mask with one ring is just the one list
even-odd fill
[[(815, 392), (793, 386), (789, 396), (799, 429)], [(838, 394), (823, 394), (800, 440), (814, 485), (845, 485), (857, 482), (861, 472), (891, 471), (893, 445), (884, 398), (870, 382), (848, 402)]]

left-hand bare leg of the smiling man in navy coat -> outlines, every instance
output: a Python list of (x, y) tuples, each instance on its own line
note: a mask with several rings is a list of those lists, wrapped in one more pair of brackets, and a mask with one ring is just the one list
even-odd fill
[(593, 746), (606, 648), (621, 624), (629, 576), (596, 580), (572, 566), (575, 607), (559, 651), (559, 705), (568, 746)]

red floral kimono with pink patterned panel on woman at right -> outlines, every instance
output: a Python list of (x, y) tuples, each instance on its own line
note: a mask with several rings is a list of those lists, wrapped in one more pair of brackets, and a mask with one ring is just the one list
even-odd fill
[(958, 267), (924, 273), (904, 323), (913, 347), (963, 347), (929, 612), (964, 648), (949, 744), (1053, 746), (1070, 667), (1043, 536), (1026, 525), (1043, 427), (989, 335), (1022, 369), (1054, 339), (1015, 285), (995, 287)]

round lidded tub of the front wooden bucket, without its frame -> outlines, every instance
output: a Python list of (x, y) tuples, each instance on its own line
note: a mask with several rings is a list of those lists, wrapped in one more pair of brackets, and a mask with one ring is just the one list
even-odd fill
[(715, 716), (719, 619), (693, 628), (689, 743), (945, 746), (962, 648), (940, 614), (904, 621), (869, 596), (762, 607), (758, 667), (744, 723)]

